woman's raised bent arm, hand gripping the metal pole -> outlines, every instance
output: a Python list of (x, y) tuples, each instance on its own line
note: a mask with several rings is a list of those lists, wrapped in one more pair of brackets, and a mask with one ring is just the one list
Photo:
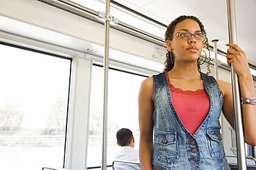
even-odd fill
[[(228, 49), (228, 65), (232, 65), (241, 89), (241, 98), (256, 97), (253, 76), (250, 74), (246, 54), (238, 45), (228, 44), (233, 49)], [(232, 87), (228, 83), (219, 81), (224, 95), (223, 114), (234, 128), (234, 109), (232, 100)], [(246, 143), (256, 145), (256, 105), (243, 105), (244, 138)]]

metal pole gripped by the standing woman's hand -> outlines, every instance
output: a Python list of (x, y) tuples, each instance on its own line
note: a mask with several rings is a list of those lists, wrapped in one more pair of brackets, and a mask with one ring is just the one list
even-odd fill
[[(228, 34), (230, 43), (237, 44), (237, 30), (235, 23), (235, 0), (227, 0), (228, 8)], [(246, 169), (246, 151), (244, 147), (244, 131), (241, 114), (241, 100), (239, 94), (238, 76), (231, 65), (232, 94), (235, 111), (235, 131), (237, 141), (237, 163), (238, 169)]]

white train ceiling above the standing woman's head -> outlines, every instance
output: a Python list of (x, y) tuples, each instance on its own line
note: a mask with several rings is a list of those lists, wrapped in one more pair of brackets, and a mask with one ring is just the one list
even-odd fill
[[(133, 10), (160, 21), (165, 25), (180, 15), (198, 17), (208, 34), (208, 39), (219, 39), (218, 48), (226, 51), (228, 43), (228, 17), (224, 0), (115, 0)], [(235, 1), (237, 42), (247, 53), (248, 60), (256, 65), (256, 1)], [(210, 42), (210, 45), (213, 45)]]

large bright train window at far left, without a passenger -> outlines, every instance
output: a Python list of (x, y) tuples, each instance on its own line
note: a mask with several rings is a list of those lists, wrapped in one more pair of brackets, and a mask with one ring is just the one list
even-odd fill
[(1, 169), (63, 167), (71, 59), (0, 44)]

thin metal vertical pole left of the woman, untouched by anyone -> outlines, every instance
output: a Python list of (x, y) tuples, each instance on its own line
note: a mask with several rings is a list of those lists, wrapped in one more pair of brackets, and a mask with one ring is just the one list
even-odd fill
[(104, 39), (104, 104), (103, 104), (103, 135), (102, 135), (102, 170), (107, 170), (107, 100), (109, 78), (109, 10), (110, 1), (106, 0), (105, 39)]

